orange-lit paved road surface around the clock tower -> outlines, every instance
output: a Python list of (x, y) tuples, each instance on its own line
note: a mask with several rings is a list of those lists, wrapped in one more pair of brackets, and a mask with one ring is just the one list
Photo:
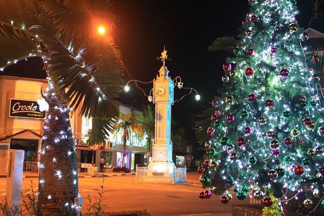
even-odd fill
[[(230, 213), (233, 204), (249, 202), (239, 201), (233, 196), (228, 204), (222, 204), (218, 196), (213, 195), (209, 200), (201, 200), (198, 193), (201, 191), (199, 174), (188, 173), (187, 181), (191, 185), (136, 183), (135, 176), (106, 177), (104, 182), (104, 203), (108, 211), (143, 210), (147, 209), (152, 215), (188, 215), (204, 214), (226, 215)], [(25, 178), (23, 189), (29, 188), (30, 180)], [(79, 178), (79, 193), (84, 197), (84, 207), (88, 204), (86, 196), (96, 197), (102, 184), (102, 178)], [(3, 199), (6, 192), (6, 179), (0, 179), (0, 197)]]

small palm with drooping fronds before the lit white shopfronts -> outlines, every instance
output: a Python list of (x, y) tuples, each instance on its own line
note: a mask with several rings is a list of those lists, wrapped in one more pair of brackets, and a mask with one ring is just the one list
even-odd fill
[(123, 146), (123, 159), (121, 160), (121, 167), (123, 167), (125, 164), (126, 144), (127, 141), (131, 138), (132, 133), (136, 133), (139, 137), (143, 136), (143, 129), (139, 124), (138, 118), (139, 117), (136, 115), (125, 115), (123, 113), (120, 113), (119, 120), (114, 126), (113, 137), (116, 138), (121, 134), (121, 145)]

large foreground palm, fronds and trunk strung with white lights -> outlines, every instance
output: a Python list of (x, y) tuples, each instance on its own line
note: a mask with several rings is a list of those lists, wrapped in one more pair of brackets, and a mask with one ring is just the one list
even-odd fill
[(70, 108), (93, 118), (92, 142), (112, 131), (123, 65), (109, 34), (98, 37), (98, 23), (113, 27), (109, 1), (0, 0), (0, 69), (42, 57), (49, 77), (43, 93), (49, 104), (39, 159), (38, 212), (75, 215), (78, 196), (76, 152)]

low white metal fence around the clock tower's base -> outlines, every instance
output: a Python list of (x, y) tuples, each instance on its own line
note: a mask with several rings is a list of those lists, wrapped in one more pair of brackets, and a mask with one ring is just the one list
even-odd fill
[(136, 182), (186, 182), (187, 168), (168, 168), (159, 171), (148, 170), (148, 167), (136, 165)]

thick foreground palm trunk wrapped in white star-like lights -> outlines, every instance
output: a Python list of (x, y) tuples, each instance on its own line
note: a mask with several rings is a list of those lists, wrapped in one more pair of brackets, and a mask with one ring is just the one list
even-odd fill
[(76, 215), (76, 209), (71, 208), (78, 196), (78, 179), (69, 109), (58, 96), (46, 101), (49, 111), (39, 158), (38, 212)]

